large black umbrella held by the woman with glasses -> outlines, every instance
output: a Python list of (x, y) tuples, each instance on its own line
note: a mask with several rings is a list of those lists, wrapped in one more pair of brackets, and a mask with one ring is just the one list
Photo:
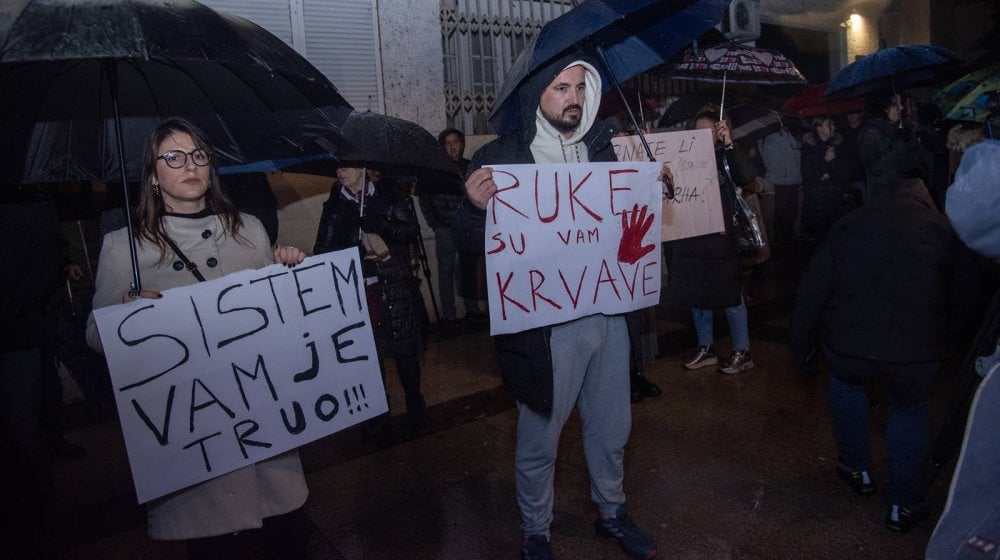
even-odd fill
[[(0, 181), (14, 184), (125, 184), (167, 116), (202, 128), (227, 166), (305, 155), (306, 127), (336, 126), (350, 112), (281, 40), (186, 0), (7, 2), (0, 104), (9, 142)], [(137, 270), (133, 281), (139, 289)]]

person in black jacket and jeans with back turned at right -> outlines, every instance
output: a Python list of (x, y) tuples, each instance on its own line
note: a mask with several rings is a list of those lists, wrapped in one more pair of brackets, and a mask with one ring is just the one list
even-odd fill
[(836, 471), (859, 494), (875, 491), (865, 383), (888, 385), (886, 524), (895, 531), (922, 511), (931, 382), (975, 308), (977, 280), (972, 252), (923, 181), (906, 179), (837, 222), (799, 286), (791, 348), (800, 364), (817, 347), (829, 362)]

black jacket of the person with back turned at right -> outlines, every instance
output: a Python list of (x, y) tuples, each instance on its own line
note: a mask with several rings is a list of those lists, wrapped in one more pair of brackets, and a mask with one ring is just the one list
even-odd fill
[(975, 258), (923, 182), (885, 194), (833, 226), (802, 278), (791, 323), (800, 360), (820, 342), (876, 362), (940, 360), (974, 310)]

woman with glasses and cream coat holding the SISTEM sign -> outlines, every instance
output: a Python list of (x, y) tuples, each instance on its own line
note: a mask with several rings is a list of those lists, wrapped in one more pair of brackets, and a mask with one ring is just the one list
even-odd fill
[[(305, 258), (294, 247), (272, 248), (260, 222), (236, 210), (219, 188), (207, 137), (190, 122), (167, 119), (150, 133), (141, 172), (133, 219), (143, 281), (138, 297)], [(94, 309), (133, 299), (131, 279), (128, 230), (121, 228), (105, 236)], [(101, 351), (93, 316), (87, 339)], [(188, 539), (189, 558), (238, 557), (248, 542), (270, 550), (267, 557), (303, 558), (304, 525), (296, 516), (307, 494), (298, 453), (291, 451), (153, 500), (149, 533)]]

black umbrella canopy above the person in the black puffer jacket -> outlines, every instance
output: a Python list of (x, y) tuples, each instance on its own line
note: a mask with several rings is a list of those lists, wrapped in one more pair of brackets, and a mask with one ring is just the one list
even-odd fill
[(336, 157), (310, 159), (284, 171), (332, 176), (338, 167), (364, 167), (387, 175), (412, 175), (420, 183), (451, 184), (461, 178), (437, 138), (405, 119), (355, 111), (340, 126), (316, 132), (315, 144)]

